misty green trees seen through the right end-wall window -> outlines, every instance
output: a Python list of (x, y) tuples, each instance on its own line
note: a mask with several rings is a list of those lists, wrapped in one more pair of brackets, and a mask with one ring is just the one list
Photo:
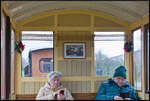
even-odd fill
[[(117, 68), (120, 65), (124, 65), (123, 55), (109, 58), (106, 55), (102, 54), (101, 51), (95, 54), (96, 75), (112, 76), (115, 68)], [(102, 70), (102, 74), (100, 74), (98, 70)]]

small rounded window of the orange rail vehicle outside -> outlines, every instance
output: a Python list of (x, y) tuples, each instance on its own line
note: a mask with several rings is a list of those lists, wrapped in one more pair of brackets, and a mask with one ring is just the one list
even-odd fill
[(53, 59), (52, 58), (41, 58), (40, 59), (40, 72), (51, 72), (53, 71)]

